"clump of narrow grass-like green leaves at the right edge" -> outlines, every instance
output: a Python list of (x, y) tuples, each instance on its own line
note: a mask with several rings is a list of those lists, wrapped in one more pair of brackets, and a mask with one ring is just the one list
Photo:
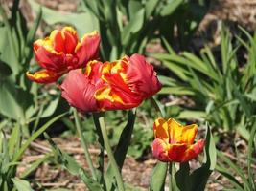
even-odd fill
[[(160, 78), (164, 85), (160, 94), (188, 96), (194, 102), (194, 106), (184, 106), (185, 109), (179, 111), (179, 118), (204, 118), (214, 127), (237, 130), (248, 139), (251, 118), (255, 117), (256, 111), (256, 35), (251, 36), (243, 29), (242, 32), (248, 42), (239, 36), (232, 38), (223, 28), (221, 54), (218, 54), (221, 60), (208, 47), (197, 56), (188, 52), (177, 54), (167, 43), (170, 53), (153, 56), (161, 60), (173, 75), (172, 78)], [(246, 51), (243, 67), (238, 61), (238, 50), (242, 47)]]

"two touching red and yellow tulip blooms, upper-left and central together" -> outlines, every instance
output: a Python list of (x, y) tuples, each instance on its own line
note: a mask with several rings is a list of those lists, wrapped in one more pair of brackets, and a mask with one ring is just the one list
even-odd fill
[(27, 76), (37, 83), (51, 83), (68, 73), (60, 85), (62, 97), (81, 112), (134, 108), (160, 90), (144, 56), (103, 63), (97, 59), (99, 45), (98, 32), (85, 34), (80, 41), (71, 27), (55, 30), (35, 41), (35, 57), (43, 70)]

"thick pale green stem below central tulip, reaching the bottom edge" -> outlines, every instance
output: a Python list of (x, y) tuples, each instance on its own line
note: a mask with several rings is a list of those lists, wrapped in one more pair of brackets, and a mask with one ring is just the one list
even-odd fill
[(117, 181), (118, 190), (119, 191), (125, 191), (122, 176), (121, 176), (121, 173), (119, 171), (116, 160), (114, 158), (114, 155), (112, 153), (112, 150), (111, 150), (111, 147), (110, 147), (110, 144), (109, 144), (109, 139), (107, 137), (104, 116), (97, 114), (97, 118), (99, 120), (100, 128), (101, 128), (101, 131), (102, 131), (102, 135), (103, 135), (103, 139), (104, 139), (104, 143), (105, 143), (105, 150), (107, 152), (107, 156), (108, 156), (108, 159), (110, 161), (110, 164), (113, 167), (113, 172), (115, 174), (115, 178), (116, 178), (116, 181)]

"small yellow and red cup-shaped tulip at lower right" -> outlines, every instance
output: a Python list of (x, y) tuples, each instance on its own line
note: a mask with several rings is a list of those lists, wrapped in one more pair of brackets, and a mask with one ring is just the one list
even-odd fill
[(194, 159), (203, 150), (204, 140), (194, 143), (198, 126), (182, 126), (175, 119), (157, 118), (153, 124), (154, 141), (152, 153), (164, 162), (186, 162)]

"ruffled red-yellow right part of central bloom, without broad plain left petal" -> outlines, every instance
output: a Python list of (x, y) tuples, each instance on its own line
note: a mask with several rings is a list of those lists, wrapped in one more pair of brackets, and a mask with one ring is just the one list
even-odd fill
[(97, 91), (95, 97), (104, 110), (137, 107), (145, 98), (161, 89), (152, 65), (137, 53), (114, 62), (105, 62), (102, 79), (107, 86)]

